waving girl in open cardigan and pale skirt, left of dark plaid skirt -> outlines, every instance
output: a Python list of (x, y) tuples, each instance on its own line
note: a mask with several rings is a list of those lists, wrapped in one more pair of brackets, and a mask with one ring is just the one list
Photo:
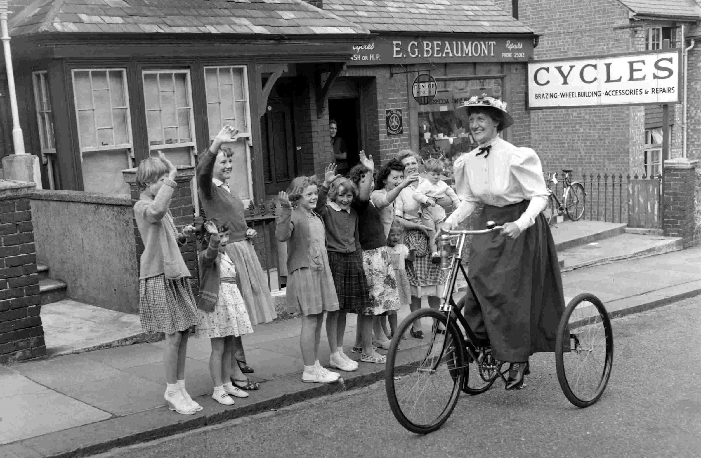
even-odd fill
[(336, 360), (343, 370), (355, 370), (358, 365), (355, 361), (342, 359), (336, 348), (339, 299), (326, 254), (324, 223), (314, 211), (319, 198), (316, 180), (299, 176), (292, 180), (287, 193), (281, 192), (278, 198), (282, 214), (275, 237), (280, 242), (287, 242), (287, 309), (302, 315), (299, 335), (304, 359), (302, 382), (336, 382), (339, 373), (329, 372), (321, 366), (318, 358), (324, 312), (327, 312), (326, 334), (332, 366)]

